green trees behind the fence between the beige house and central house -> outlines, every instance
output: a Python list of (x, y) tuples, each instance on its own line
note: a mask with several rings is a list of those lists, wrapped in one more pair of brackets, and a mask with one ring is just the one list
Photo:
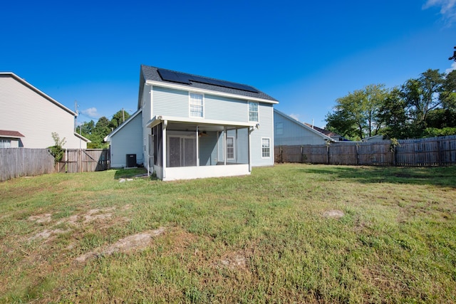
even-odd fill
[(111, 120), (108, 120), (107, 117), (103, 116), (98, 119), (98, 122), (83, 122), (82, 125), (78, 126), (76, 130), (78, 133), (81, 133), (83, 137), (86, 137), (90, 142), (88, 142), (88, 149), (103, 149), (108, 148), (108, 142), (104, 142), (104, 138), (110, 132), (113, 132), (118, 126), (128, 120), (130, 114), (124, 110), (119, 110), (113, 115)]

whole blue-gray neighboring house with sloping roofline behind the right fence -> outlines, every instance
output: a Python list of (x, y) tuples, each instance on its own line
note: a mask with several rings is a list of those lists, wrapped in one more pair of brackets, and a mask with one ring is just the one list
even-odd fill
[(326, 142), (336, 140), (274, 109), (274, 145), (324, 145)]

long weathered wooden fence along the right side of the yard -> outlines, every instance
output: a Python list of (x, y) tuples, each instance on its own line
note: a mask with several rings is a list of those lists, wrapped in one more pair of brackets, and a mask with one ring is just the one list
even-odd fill
[(427, 167), (456, 164), (456, 136), (274, 147), (276, 162)]

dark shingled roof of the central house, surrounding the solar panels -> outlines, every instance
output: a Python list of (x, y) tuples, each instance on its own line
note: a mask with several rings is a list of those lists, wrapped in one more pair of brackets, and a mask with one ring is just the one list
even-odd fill
[[(254, 87), (252, 87), (252, 88), (257, 90), (258, 93), (249, 92), (246, 90), (237, 90), (234, 88), (225, 88), (225, 87), (222, 87), (219, 85), (210, 85), (207, 83), (199, 83), (199, 82), (192, 81), (192, 80), (190, 80), (190, 85), (187, 85), (185, 83), (175, 83), (172, 81), (162, 80), (162, 78), (160, 77), (160, 74), (157, 72), (158, 69), (165, 70), (162, 68), (155, 68), (155, 67), (149, 66), (149, 65), (141, 65), (139, 104), (141, 101), (140, 99), (142, 97), (142, 90), (144, 90), (144, 83), (146, 80), (151, 80), (151, 81), (155, 81), (158, 83), (169, 83), (169, 84), (181, 85), (182, 87), (188, 87), (188, 88), (199, 88), (199, 89), (203, 89), (203, 90), (212, 90), (212, 91), (220, 92), (220, 93), (241, 95), (241, 96), (245, 96), (247, 99), (248, 98), (260, 98), (260, 99), (264, 99), (264, 100), (270, 100), (272, 103), (278, 103), (278, 100), (276, 100), (275, 98), (272, 98), (271, 96), (267, 95), (266, 93), (261, 92), (260, 90), (258, 90), (257, 88), (254, 88)], [(169, 71), (176, 72), (176, 73), (182, 73), (182, 72), (177, 72), (175, 70), (169, 70)], [(187, 73), (185, 73), (185, 74), (187, 74)], [(189, 75), (192, 75), (192, 74), (189, 74)], [(197, 77), (205, 78), (208, 80), (217, 80), (214, 78), (208, 78), (208, 77), (199, 76), (199, 75), (192, 75), (192, 76), (197, 76)], [(222, 81), (224, 81), (224, 80), (222, 80)]]

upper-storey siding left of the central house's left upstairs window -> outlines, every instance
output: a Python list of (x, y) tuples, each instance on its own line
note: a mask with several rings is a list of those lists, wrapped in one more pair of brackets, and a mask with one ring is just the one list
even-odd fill
[(189, 117), (189, 93), (184, 90), (153, 87), (152, 117)]

